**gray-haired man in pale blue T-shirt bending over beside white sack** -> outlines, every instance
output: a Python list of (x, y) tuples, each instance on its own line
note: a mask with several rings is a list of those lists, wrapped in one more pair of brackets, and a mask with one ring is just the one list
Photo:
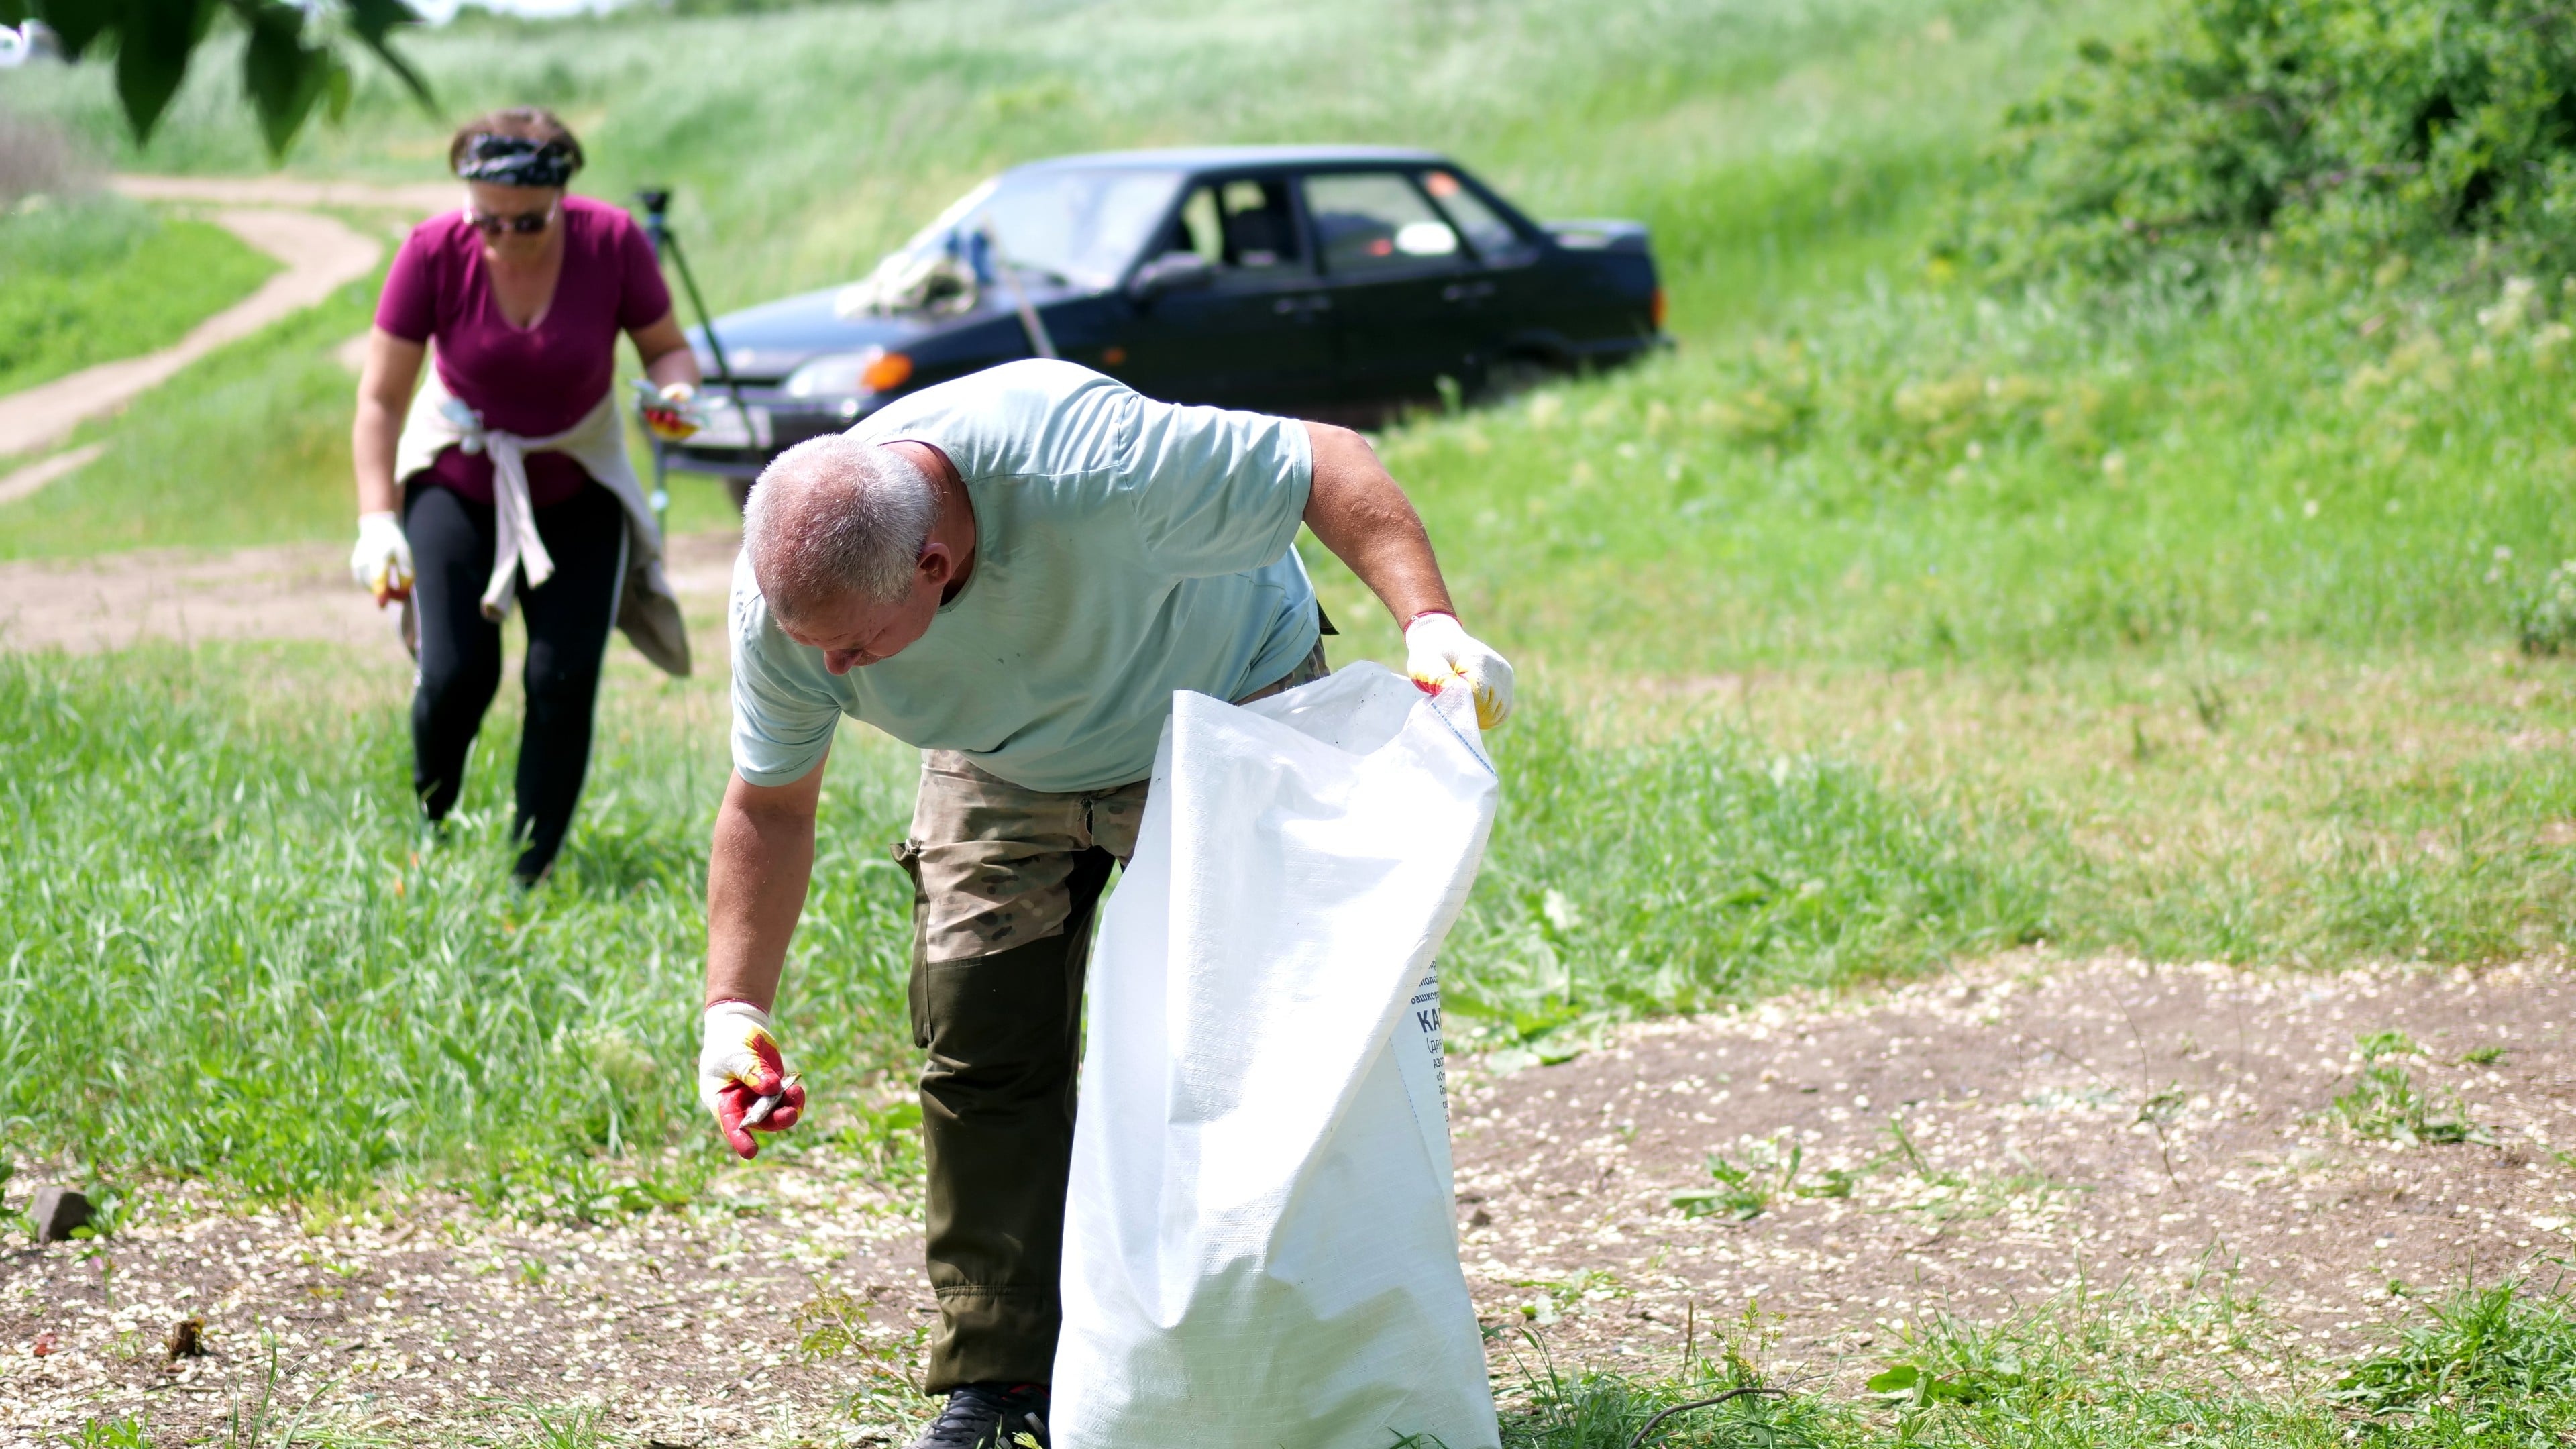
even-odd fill
[[(706, 879), (701, 1096), (744, 1158), (804, 1106), (770, 1003), (840, 717), (920, 745), (912, 1036), (940, 1302), (920, 1446), (1043, 1421), (1092, 908), (1136, 848), (1175, 688), (1324, 676), (1314, 529), (1484, 724), (1512, 668), (1450, 614), (1422, 518), (1345, 428), (1172, 407), (1059, 361), (922, 389), (760, 474), (734, 567), (734, 779)], [(773, 1106), (762, 1106), (775, 1098)]]

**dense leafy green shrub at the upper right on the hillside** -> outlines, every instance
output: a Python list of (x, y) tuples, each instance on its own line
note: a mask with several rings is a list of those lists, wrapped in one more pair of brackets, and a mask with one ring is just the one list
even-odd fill
[(2555, 0), (2172, 0), (2007, 113), (1947, 260), (2192, 281), (2483, 240), (2576, 263), (2576, 10)]

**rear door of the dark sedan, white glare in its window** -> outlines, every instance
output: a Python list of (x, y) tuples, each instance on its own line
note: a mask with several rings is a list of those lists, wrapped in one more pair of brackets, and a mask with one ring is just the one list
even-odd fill
[(1486, 278), (1409, 170), (1306, 178), (1306, 217), (1332, 291), (1340, 397), (1383, 405), (1437, 397), (1466, 379), (1473, 302)]

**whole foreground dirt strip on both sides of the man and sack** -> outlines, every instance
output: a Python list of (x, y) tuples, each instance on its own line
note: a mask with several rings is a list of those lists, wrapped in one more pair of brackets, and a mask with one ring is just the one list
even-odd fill
[[(2233, 1269), (2233, 1292), (2264, 1302), (2262, 1343), (2210, 1341), (2202, 1366), (2262, 1379), (2414, 1312), (2393, 1281), (2437, 1294), (2566, 1248), (2576, 1173), (2553, 1145), (2576, 1142), (2571, 1029), (2558, 964), (1996, 962), (1847, 1006), (1631, 1026), (1510, 1075), (1463, 1062), (1468, 1284), (1507, 1385), (1522, 1328), (1558, 1364), (1656, 1369), (1759, 1302), (1777, 1361), (1847, 1390), (1906, 1320), (1994, 1320), (2079, 1281), (2172, 1294)], [(2393, 1147), (2318, 1116), (2372, 1031), (2419, 1042), (2388, 1060), (2494, 1145)], [(2463, 1062), (2486, 1049), (2501, 1057)], [(1790, 1145), (1798, 1178), (1759, 1214), (1672, 1207), (1721, 1186), (1708, 1152), (1770, 1160), (1777, 1183)], [(1837, 1183), (1850, 1196), (1798, 1196)], [(531, 1405), (569, 1403), (603, 1405), (629, 1444), (832, 1439), (850, 1431), (835, 1405), (871, 1377), (853, 1356), (804, 1361), (799, 1307), (848, 1294), (902, 1372), (930, 1320), (917, 1199), (829, 1150), (603, 1227), (420, 1201), (307, 1230), (191, 1189), (103, 1261), (0, 1258), (0, 1444), (95, 1413), (204, 1431), (255, 1382), (260, 1333), (278, 1336), (289, 1403), (319, 1395), (327, 1421), (397, 1439), (513, 1439)], [(170, 1364), (183, 1318), (206, 1320), (211, 1354)]]

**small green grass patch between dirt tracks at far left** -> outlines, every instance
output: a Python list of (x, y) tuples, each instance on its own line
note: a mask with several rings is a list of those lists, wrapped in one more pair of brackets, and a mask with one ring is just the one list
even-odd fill
[(116, 196), (23, 199), (0, 211), (0, 394), (165, 348), (273, 271), (211, 222)]

